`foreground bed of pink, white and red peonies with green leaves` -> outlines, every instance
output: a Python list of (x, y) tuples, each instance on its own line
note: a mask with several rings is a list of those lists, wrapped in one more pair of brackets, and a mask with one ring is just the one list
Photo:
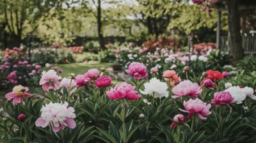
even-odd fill
[(253, 136), (256, 96), (252, 87), (237, 84), (239, 76), (225, 71), (209, 69), (198, 75), (189, 66), (182, 70), (184, 77), (174, 70), (149, 71), (145, 64), (133, 62), (125, 72), (134, 79), (120, 84), (111, 83), (105, 68), (63, 78), (54, 70), (42, 72), (39, 83), (45, 93), (40, 98), (31, 95), (24, 86), (15, 86), (6, 94), (6, 113), (0, 118), (2, 139), (6, 142), (256, 141)]

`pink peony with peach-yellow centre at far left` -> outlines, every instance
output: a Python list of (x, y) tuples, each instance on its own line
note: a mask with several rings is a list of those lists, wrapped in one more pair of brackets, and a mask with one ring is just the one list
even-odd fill
[(7, 100), (12, 100), (13, 105), (23, 102), (23, 96), (30, 97), (31, 94), (28, 93), (28, 87), (15, 86), (12, 89), (12, 92), (5, 94)]

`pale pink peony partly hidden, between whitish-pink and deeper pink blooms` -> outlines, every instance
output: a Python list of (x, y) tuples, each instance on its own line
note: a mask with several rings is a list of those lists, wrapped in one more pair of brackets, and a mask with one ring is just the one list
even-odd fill
[[(61, 87), (66, 87), (67, 90), (72, 89), (71, 91), (69, 91), (69, 94), (72, 94), (76, 91), (77, 87), (76, 87), (76, 81), (72, 80), (72, 79), (67, 79), (67, 78), (63, 78), (59, 84), (59, 88)], [(61, 93), (63, 93), (63, 89), (61, 90)]]

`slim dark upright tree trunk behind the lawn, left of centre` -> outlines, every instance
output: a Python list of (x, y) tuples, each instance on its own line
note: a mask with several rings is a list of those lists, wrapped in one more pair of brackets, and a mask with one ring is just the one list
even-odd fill
[(106, 49), (106, 47), (105, 47), (104, 37), (102, 34), (101, 1), (100, 0), (98, 0), (97, 24), (98, 24), (98, 38), (99, 38), (99, 43), (100, 43), (100, 49), (104, 50), (104, 49)]

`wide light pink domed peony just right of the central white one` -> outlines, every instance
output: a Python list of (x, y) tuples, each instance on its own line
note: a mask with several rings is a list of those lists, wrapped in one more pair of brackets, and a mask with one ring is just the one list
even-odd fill
[(173, 87), (172, 92), (174, 96), (172, 98), (178, 98), (182, 96), (190, 96), (191, 98), (196, 98), (202, 92), (202, 89), (198, 84), (192, 83), (190, 80), (184, 80), (180, 82), (177, 86)]

